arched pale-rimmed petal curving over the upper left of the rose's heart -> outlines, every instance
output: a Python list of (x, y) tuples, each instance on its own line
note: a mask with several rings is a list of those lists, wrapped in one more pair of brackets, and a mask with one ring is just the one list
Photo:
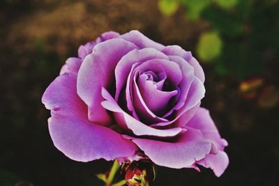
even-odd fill
[(130, 73), (133, 64), (146, 62), (150, 59), (168, 59), (168, 57), (153, 48), (144, 48), (141, 50), (132, 50), (121, 58), (115, 68), (115, 79), (116, 79), (116, 94), (115, 99), (118, 101), (119, 94), (125, 85), (128, 74)]

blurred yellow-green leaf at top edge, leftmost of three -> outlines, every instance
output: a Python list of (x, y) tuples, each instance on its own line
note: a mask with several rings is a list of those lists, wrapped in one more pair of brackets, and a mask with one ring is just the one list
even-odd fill
[(163, 15), (170, 16), (173, 15), (179, 8), (179, 1), (177, 0), (159, 0), (158, 8), (163, 13)]

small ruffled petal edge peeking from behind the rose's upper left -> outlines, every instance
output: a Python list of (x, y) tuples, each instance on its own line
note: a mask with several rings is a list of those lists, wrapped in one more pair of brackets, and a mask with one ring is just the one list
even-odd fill
[(84, 59), (86, 55), (92, 53), (92, 50), (96, 44), (101, 43), (103, 41), (107, 41), (111, 38), (116, 38), (117, 36), (119, 36), (117, 32), (107, 31), (104, 34), (100, 35), (100, 37), (98, 37), (96, 41), (90, 41), (88, 43), (85, 43), (84, 45), (80, 45), (80, 48), (78, 49), (78, 57)]

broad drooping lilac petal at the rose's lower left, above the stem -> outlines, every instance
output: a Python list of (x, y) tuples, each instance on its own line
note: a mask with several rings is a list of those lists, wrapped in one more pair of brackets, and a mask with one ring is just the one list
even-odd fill
[(131, 157), (137, 149), (112, 129), (71, 117), (50, 117), (50, 136), (56, 148), (75, 161)]

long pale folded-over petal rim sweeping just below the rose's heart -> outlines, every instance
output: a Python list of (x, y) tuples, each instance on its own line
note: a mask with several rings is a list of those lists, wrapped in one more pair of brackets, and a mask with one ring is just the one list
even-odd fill
[(118, 114), (115, 118), (117, 123), (124, 129), (130, 129), (137, 136), (172, 137), (185, 132), (185, 129), (180, 127), (174, 127), (172, 129), (153, 129), (123, 111), (105, 88), (102, 89), (102, 95), (105, 99), (105, 101), (101, 103), (102, 106)]

